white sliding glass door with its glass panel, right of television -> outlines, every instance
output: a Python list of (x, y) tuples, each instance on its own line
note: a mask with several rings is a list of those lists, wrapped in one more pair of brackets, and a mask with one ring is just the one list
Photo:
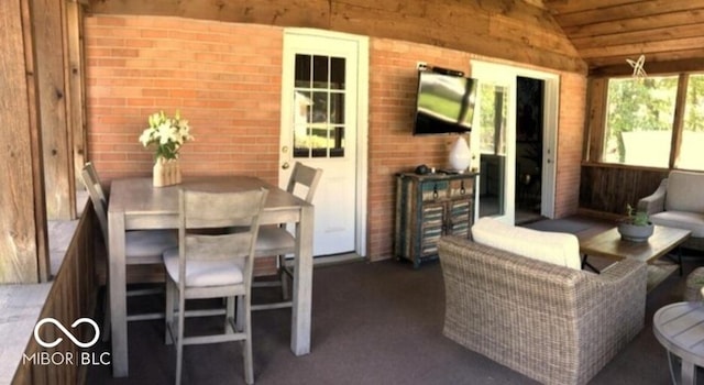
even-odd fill
[[(559, 76), (526, 68), (479, 61), (472, 62), (472, 77), (479, 92), (470, 147), (480, 170), (477, 217), (515, 222), (516, 196), (516, 89), (517, 77), (544, 81), (541, 215), (554, 216), (556, 145)], [(473, 166), (474, 167), (474, 166)], [(484, 201), (482, 201), (484, 199)]]

